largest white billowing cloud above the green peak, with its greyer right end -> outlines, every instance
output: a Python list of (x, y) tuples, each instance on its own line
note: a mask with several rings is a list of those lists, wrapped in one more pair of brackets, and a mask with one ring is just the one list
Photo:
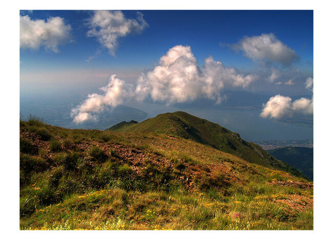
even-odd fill
[(141, 75), (136, 94), (139, 100), (150, 95), (153, 101), (167, 104), (189, 102), (198, 97), (216, 99), (219, 103), (224, 86), (246, 87), (255, 79), (255, 75), (244, 76), (234, 68), (224, 67), (211, 56), (199, 69), (191, 47), (178, 45), (160, 58), (154, 70)]

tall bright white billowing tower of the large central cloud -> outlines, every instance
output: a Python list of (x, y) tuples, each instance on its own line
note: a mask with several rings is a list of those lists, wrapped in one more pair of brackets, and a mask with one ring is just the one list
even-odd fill
[(173, 103), (191, 101), (200, 95), (200, 71), (190, 47), (173, 47), (159, 64), (139, 78), (138, 99), (150, 94), (153, 101)]

